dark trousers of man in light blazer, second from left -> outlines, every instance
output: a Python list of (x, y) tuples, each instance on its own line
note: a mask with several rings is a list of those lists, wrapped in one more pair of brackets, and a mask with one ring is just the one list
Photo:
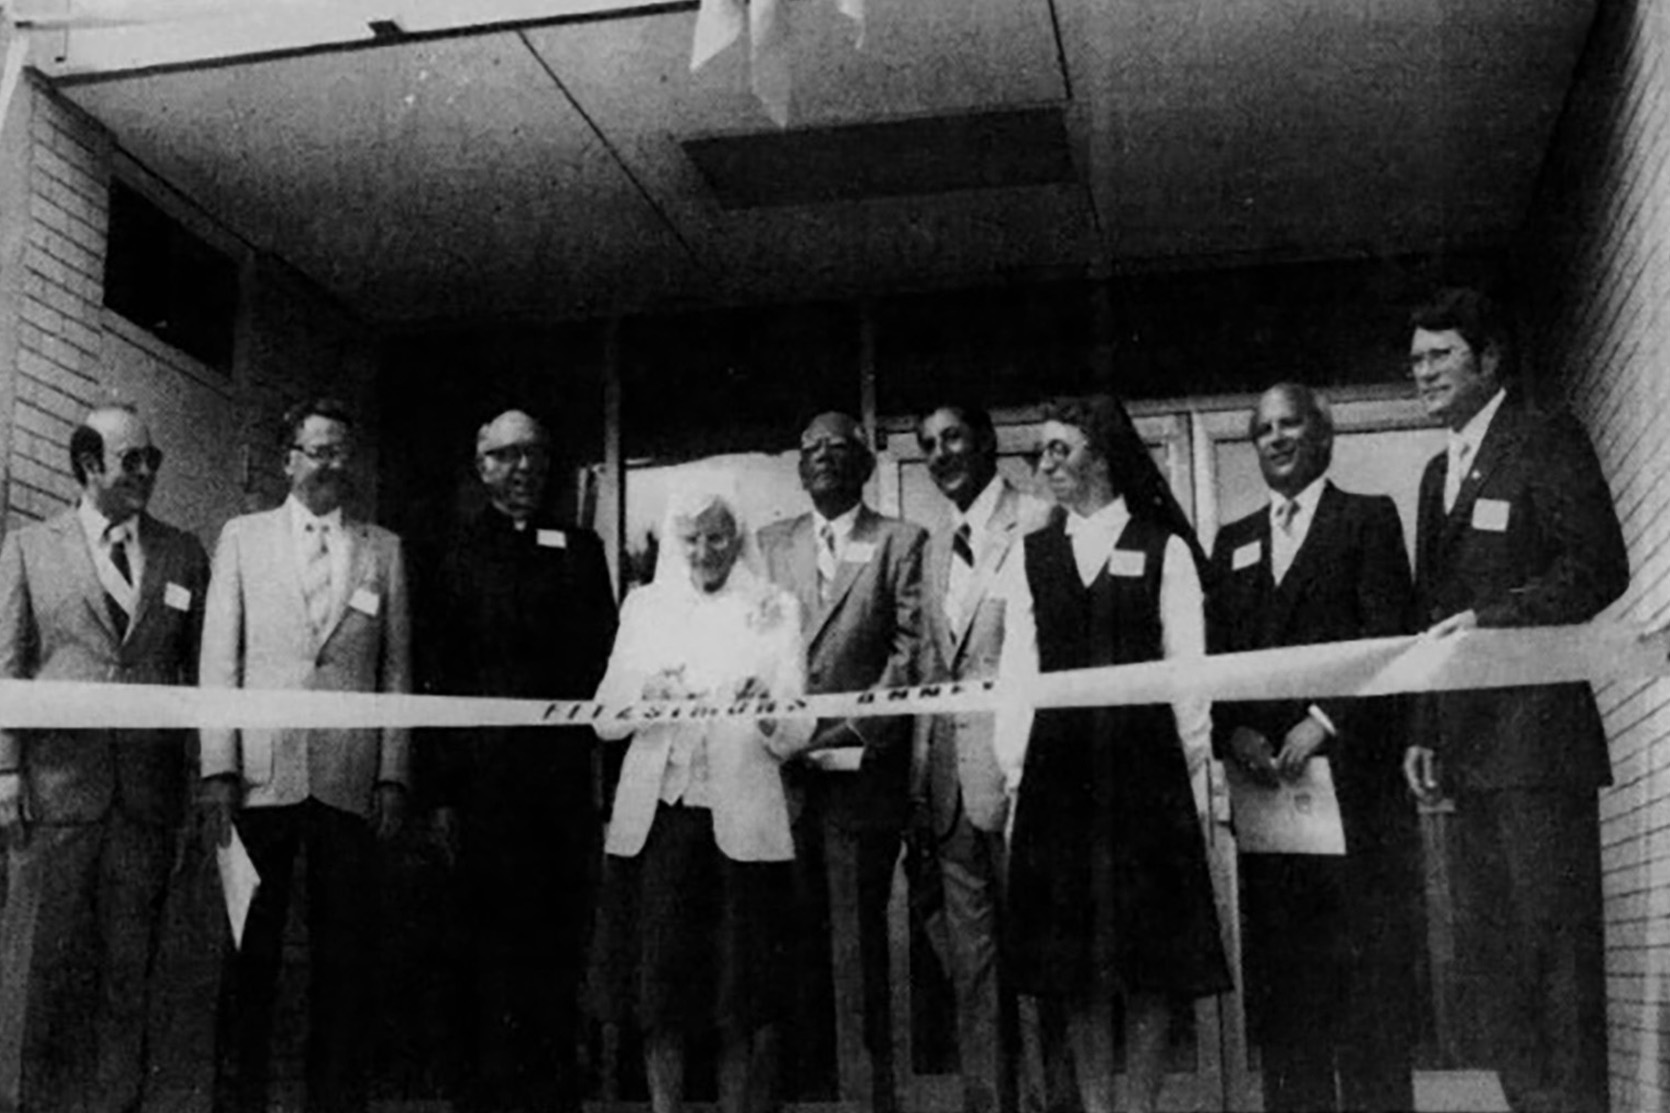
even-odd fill
[[(359, 816), (317, 800), (252, 807), (237, 831), (261, 874), (244, 946), (222, 983), (222, 1046), (232, 1076), (217, 1080), (219, 1113), (264, 1113), (272, 1056), (272, 1006), (284, 964), (291, 867), (307, 852), (307, 1110), (364, 1113), (366, 1033), (376, 844)], [(227, 1056), (224, 1056), (227, 1058)]]

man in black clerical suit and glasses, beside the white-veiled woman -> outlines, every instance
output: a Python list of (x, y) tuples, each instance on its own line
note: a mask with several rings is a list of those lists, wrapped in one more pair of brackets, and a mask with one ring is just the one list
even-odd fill
[[(615, 640), (603, 545), (549, 520), (549, 441), (509, 409), (476, 436), (488, 506), (463, 523), (421, 652), (449, 695), (591, 699)], [(426, 789), (466, 899), (459, 1108), (579, 1110), (579, 974), (598, 807), (586, 727), (436, 732)]]

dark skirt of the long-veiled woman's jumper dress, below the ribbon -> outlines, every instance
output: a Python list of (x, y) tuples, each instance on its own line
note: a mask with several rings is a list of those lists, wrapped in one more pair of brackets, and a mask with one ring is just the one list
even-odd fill
[(1015, 802), (1014, 986), (1065, 999), (1231, 988), (1171, 709), (1042, 710)]

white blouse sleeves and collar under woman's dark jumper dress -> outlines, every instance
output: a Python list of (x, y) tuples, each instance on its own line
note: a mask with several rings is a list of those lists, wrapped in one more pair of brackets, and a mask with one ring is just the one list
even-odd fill
[[(1079, 580), (1086, 587), (1111, 560), (1114, 545), (1129, 521), (1131, 511), (1126, 508), (1124, 498), (1116, 498), (1089, 518), (1067, 515), (1074, 562), (1079, 565)], [(997, 675), (1004, 689), (1024, 692), (1029, 678), (1039, 675), (1037, 617), (1024, 560), (1005, 563), (999, 593), (1004, 598), (1005, 612), (1004, 648)], [(1206, 657), (1206, 597), (1201, 592), (1201, 573), (1194, 567), (1187, 543), (1179, 536), (1171, 536), (1166, 541), (1166, 567), (1159, 580), (1159, 625), (1161, 653), (1166, 660)], [(1212, 754), (1212, 704), (1191, 697), (1172, 702), (1171, 712), (1177, 720), (1177, 735), (1182, 739), (1182, 754), (1189, 764), (1194, 806), (1204, 816), (1206, 769)], [(1010, 792), (1020, 787), (1034, 714), (1034, 709), (1025, 704), (1009, 704), (997, 710), (992, 749)]]

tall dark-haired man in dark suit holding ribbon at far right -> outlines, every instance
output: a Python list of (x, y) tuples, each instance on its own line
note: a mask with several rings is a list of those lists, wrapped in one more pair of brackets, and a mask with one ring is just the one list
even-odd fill
[[(1448, 451), (1421, 476), (1416, 597), (1430, 633), (1580, 623), (1630, 583), (1612, 491), (1565, 411), (1508, 391), (1506, 318), (1471, 289), (1411, 318), (1409, 366)], [(1476, 1028), (1516, 1110), (1607, 1108), (1597, 790), (1612, 784), (1588, 684), (1435, 694), (1404, 760), (1455, 799), (1455, 899)]]

